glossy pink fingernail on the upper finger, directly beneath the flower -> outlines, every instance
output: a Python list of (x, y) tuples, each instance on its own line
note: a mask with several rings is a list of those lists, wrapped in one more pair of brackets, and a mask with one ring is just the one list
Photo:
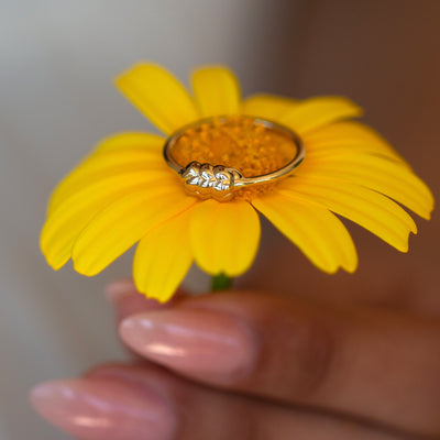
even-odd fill
[(134, 351), (179, 372), (235, 378), (255, 360), (252, 331), (238, 318), (211, 310), (148, 311), (124, 319), (120, 334)]

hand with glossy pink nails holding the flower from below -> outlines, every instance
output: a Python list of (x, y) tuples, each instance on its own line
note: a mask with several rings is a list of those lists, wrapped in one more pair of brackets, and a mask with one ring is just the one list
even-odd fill
[(386, 440), (440, 437), (440, 320), (294, 295), (109, 290), (143, 361), (37, 387), (81, 439)]

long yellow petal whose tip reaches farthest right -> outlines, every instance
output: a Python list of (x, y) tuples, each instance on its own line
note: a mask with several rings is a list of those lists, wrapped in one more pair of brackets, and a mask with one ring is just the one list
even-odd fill
[(298, 176), (326, 177), (374, 189), (429, 219), (433, 197), (427, 185), (396, 162), (366, 154), (307, 157), (296, 169)]

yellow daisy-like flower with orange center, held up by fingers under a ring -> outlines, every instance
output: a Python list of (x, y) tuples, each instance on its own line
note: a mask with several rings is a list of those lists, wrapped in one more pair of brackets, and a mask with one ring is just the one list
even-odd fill
[[(91, 276), (139, 242), (134, 282), (140, 292), (165, 301), (193, 261), (212, 275), (245, 272), (258, 248), (257, 211), (327, 273), (353, 272), (358, 265), (352, 239), (336, 215), (402, 252), (417, 228), (399, 205), (429, 219), (433, 199), (428, 187), (378, 134), (349, 121), (361, 109), (348, 99), (255, 95), (242, 101), (234, 75), (221, 66), (198, 68), (191, 84), (193, 97), (153, 64), (139, 64), (117, 79), (122, 94), (167, 136), (195, 121), (226, 117), (229, 125), (213, 121), (187, 135), (186, 147), (176, 153), (186, 160), (196, 160), (191, 154), (233, 157), (233, 164), (223, 165), (255, 167), (260, 174), (279, 166), (282, 148), (265, 144), (264, 130), (246, 125), (251, 116), (297, 133), (306, 150), (302, 163), (288, 178), (232, 200), (201, 199), (185, 190), (164, 161), (165, 138), (116, 134), (52, 195), (41, 237), (52, 267), (72, 257), (76, 271)], [(228, 139), (235, 148), (224, 152)]]

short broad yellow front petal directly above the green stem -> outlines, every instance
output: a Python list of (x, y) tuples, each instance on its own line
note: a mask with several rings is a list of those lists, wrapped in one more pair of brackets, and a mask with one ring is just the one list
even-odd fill
[(206, 200), (193, 211), (190, 237), (197, 264), (211, 275), (237, 276), (252, 264), (260, 219), (245, 201)]

